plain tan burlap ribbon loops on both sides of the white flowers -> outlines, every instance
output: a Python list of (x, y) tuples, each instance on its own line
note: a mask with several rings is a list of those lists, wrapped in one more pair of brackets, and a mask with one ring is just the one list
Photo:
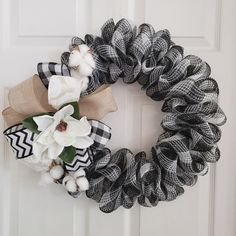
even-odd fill
[[(10, 89), (8, 94), (10, 107), (3, 110), (2, 115), (8, 126), (21, 123), (28, 116), (43, 112), (55, 111), (48, 104), (47, 88), (38, 75), (23, 81)], [(107, 113), (117, 110), (109, 85), (99, 87), (95, 92), (79, 100), (81, 116), (100, 120)]]

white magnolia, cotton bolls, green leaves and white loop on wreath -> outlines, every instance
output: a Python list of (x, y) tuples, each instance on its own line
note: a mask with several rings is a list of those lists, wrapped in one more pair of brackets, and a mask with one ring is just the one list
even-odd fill
[(48, 103), (57, 111), (28, 117), (23, 125), (37, 134), (33, 140), (33, 158), (34, 162), (47, 164), (43, 182), (61, 181), (68, 192), (75, 193), (89, 188), (85, 171), (68, 173), (63, 163), (72, 163), (76, 149), (86, 149), (94, 142), (89, 136), (91, 125), (87, 117), (80, 117), (78, 107), (81, 93), (88, 87), (88, 76), (95, 68), (88, 46), (73, 48), (68, 66), (72, 77), (53, 75), (49, 79)]

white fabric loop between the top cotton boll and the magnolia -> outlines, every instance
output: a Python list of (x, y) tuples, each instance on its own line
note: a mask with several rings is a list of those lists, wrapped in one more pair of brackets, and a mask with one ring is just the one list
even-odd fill
[(82, 91), (88, 87), (88, 77), (73, 78), (53, 75), (49, 79), (48, 102), (59, 109), (63, 104), (78, 101)]

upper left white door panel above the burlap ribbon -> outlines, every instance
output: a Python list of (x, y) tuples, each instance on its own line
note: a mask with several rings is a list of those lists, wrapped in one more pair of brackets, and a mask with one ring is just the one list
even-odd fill
[(19, 37), (66, 37), (75, 34), (75, 0), (18, 0), (18, 4)]

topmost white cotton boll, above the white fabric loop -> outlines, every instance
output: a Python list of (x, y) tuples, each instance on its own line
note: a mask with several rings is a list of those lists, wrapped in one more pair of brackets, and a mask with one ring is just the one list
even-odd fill
[(95, 68), (90, 48), (86, 44), (76, 46), (70, 53), (68, 65), (78, 76), (90, 76)]

